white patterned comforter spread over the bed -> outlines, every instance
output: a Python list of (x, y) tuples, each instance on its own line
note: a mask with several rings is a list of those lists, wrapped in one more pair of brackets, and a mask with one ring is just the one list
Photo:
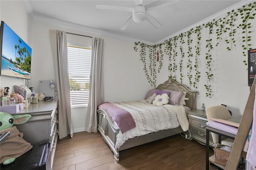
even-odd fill
[(159, 130), (171, 129), (181, 126), (188, 130), (188, 119), (183, 106), (148, 104), (144, 100), (113, 103), (117, 107), (127, 110), (132, 115), (136, 127), (124, 133), (119, 131), (115, 148), (120, 148), (129, 138), (142, 136)]

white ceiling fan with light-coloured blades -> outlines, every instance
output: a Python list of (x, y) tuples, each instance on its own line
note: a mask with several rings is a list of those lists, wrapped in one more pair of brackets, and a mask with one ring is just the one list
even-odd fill
[(101, 10), (119, 10), (119, 11), (132, 12), (132, 15), (128, 18), (128, 20), (126, 20), (126, 22), (124, 22), (124, 24), (120, 27), (120, 30), (125, 30), (133, 21), (142, 22), (144, 20), (147, 20), (153, 26), (155, 26), (156, 28), (159, 28), (160, 26), (162, 26), (162, 24), (160, 24), (160, 22), (158, 22), (153, 16), (151, 16), (148, 13), (148, 11), (158, 8), (160, 6), (166, 6), (166, 5), (172, 4), (176, 1), (157, 0), (146, 5), (142, 4), (142, 0), (134, 0), (134, 2), (135, 2), (135, 6), (133, 8), (122, 7), (122, 6), (109, 6), (109, 5), (96, 5), (96, 8)]

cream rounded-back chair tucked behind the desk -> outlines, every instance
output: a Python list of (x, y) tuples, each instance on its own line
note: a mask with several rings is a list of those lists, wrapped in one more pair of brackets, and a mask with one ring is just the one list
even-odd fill
[[(206, 109), (206, 117), (208, 121), (210, 121), (210, 118), (223, 119), (223, 120), (228, 120), (232, 118), (228, 109), (222, 105), (208, 107)], [(211, 133), (211, 134), (212, 134), (212, 140), (214, 144), (217, 144), (219, 140), (218, 134), (215, 134), (215, 133)], [(234, 143), (234, 140), (230, 138), (223, 138), (221, 140), (221, 143), (231, 146)]]

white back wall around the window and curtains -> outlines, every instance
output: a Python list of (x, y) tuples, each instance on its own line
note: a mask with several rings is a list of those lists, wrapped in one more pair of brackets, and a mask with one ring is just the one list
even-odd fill
[[(33, 75), (31, 84), (35, 91), (39, 90), (40, 80), (55, 79), (54, 65), (52, 61), (52, 51), (50, 44), (50, 29), (65, 30), (74, 34), (94, 36), (85, 32), (78, 32), (58, 26), (33, 22)], [(112, 38), (101, 37), (104, 39), (104, 87), (105, 101), (127, 101), (140, 100), (144, 98), (150, 85), (148, 85), (142, 63), (138, 53), (133, 50), (133, 42), (115, 40)], [(90, 43), (91, 40), (79, 36), (67, 34), (69, 42)], [(82, 42), (84, 41), (84, 42)], [(36, 59), (35, 59), (36, 58)], [(138, 86), (142, 85), (142, 86)], [(143, 97), (142, 97), (143, 96)], [(85, 114), (87, 108), (72, 108), (72, 121), (74, 132), (83, 131), (85, 127)]]

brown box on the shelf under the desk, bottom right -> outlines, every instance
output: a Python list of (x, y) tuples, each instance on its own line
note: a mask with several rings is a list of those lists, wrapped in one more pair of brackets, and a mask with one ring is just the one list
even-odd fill
[(226, 166), (231, 147), (224, 144), (216, 144), (214, 150), (215, 163)]

